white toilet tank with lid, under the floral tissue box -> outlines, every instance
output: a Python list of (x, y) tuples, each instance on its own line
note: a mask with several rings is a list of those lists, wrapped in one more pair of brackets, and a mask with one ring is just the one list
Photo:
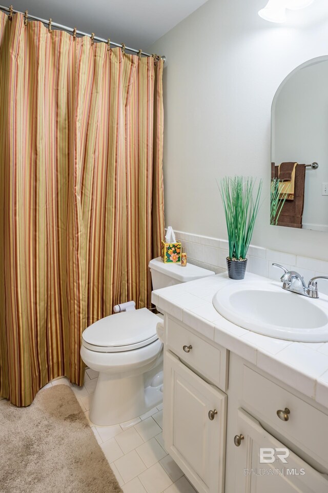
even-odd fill
[(149, 268), (153, 290), (215, 275), (215, 272), (193, 266), (191, 263), (187, 263), (186, 267), (181, 267), (179, 263), (164, 263), (161, 257), (153, 258), (149, 262)]

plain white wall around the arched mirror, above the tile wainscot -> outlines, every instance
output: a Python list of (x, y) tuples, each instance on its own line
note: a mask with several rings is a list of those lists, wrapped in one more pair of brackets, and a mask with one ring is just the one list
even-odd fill
[(328, 2), (288, 12), (275, 25), (266, 0), (209, 0), (150, 48), (167, 56), (166, 224), (226, 238), (216, 179), (262, 177), (264, 203), (253, 244), (328, 259), (328, 233), (269, 225), (270, 116), (274, 94), (295, 67), (328, 52)]

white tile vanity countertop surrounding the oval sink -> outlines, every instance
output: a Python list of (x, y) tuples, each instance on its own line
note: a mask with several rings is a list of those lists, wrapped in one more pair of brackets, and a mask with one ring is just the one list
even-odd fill
[[(245, 280), (276, 281), (246, 273)], [(152, 303), (210, 340), (229, 349), (328, 408), (328, 342), (297, 343), (243, 329), (223, 318), (212, 298), (235, 281), (227, 273), (152, 292)], [(278, 283), (279, 284), (279, 283)]]

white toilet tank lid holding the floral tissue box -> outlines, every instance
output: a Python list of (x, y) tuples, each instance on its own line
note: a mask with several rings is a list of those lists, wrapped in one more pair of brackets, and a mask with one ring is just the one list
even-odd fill
[(180, 282), (188, 282), (201, 277), (215, 275), (215, 272), (194, 266), (192, 263), (187, 263), (186, 267), (181, 267), (180, 263), (164, 263), (161, 257), (153, 258), (149, 262), (149, 268)]

